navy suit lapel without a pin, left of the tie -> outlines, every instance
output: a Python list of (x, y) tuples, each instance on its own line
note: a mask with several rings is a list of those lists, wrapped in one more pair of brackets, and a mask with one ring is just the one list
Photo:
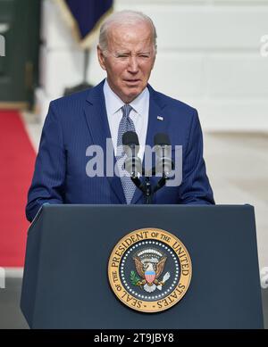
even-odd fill
[[(112, 138), (109, 123), (107, 119), (104, 95), (104, 81), (98, 86), (92, 88), (88, 93), (87, 104), (85, 106), (85, 116), (88, 124), (90, 135), (93, 139), (94, 145), (100, 145), (104, 151), (104, 158), (106, 159), (106, 139)], [(113, 168), (115, 158), (113, 154)], [(106, 160), (105, 160), (106, 172)], [(114, 194), (118, 197), (121, 203), (126, 203), (125, 195), (121, 186), (121, 179), (113, 175), (107, 177)]]

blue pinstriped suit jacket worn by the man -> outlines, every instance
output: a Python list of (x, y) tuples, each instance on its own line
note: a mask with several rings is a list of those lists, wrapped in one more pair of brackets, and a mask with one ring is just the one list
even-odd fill
[[(29, 188), (26, 216), (30, 221), (45, 202), (126, 203), (120, 178), (89, 178), (86, 174), (88, 146), (100, 145), (105, 150), (106, 138), (111, 138), (103, 86), (104, 81), (50, 103)], [(167, 133), (172, 146), (182, 145), (183, 153), (181, 185), (164, 186), (155, 194), (154, 203), (214, 203), (205, 174), (197, 110), (148, 88), (147, 145), (154, 145), (155, 134)], [(136, 189), (131, 203), (143, 202), (142, 193)]]

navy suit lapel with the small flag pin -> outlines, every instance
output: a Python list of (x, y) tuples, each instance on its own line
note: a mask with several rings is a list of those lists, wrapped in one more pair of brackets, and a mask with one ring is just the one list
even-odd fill
[[(154, 147), (154, 137), (157, 133), (165, 133), (168, 128), (168, 120), (164, 117), (163, 108), (165, 103), (158, 97), (158, 94), (155, 90), (148, 85), (150, 93), (150, 103), (149, 103), (149, 117), (148, 117), (148, 126), (147, 126), (147, 139), (146, 145), (150, 145), (151, 148)], [(161, 120), (161, 117), (163, 120)], [(143, 161), (144, 165), (144, 161)], [(153, 163), (154, 166), (154, 163)], [(148, 168), (147, 168), (148, 169)], [(151, 168), (150, 168), (151, 169)], [(132, 198), (131, 203), (137, 203), (141, 198), (142, 192), (137, 188), (135, 194)]]

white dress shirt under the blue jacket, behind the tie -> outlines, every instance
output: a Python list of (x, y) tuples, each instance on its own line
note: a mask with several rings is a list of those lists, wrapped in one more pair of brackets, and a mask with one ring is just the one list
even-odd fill
[[(121, 107), (124, 105), (124, 103), (121, 101), (121, 98), (118, 95), (113, 93), (107, 79), (105, 79), (104, 93), (108, 123), (113, 141), (114, 155), (116, 156), (118, 128), (122, 117)], [(146, 87), (143, 92), (130, 103), (130, 106), (132, 107), (132, 110), (130, 111), (130, 119), (133, 120), (135, 130), (138, 135), (138, 142), (140, 146), (138, 157), (141, 161), (143, 160), (147, 138), (149, 99), (150, 94), (148, 88)]]

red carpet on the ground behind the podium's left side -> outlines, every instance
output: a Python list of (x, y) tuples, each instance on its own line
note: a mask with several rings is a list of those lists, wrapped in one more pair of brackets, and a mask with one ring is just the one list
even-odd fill
[(24, 265), (24, 211), (35, 157), (19, 112), (0, 111), (0, 267)]

